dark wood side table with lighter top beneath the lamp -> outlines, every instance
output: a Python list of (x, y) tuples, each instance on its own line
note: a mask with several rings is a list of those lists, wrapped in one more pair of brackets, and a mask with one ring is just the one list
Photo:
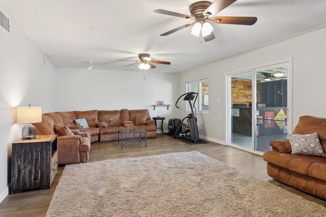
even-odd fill
[(50, 188), (58, 171), (58, 136), (36, 135), (12, 143), (11, 192)]

